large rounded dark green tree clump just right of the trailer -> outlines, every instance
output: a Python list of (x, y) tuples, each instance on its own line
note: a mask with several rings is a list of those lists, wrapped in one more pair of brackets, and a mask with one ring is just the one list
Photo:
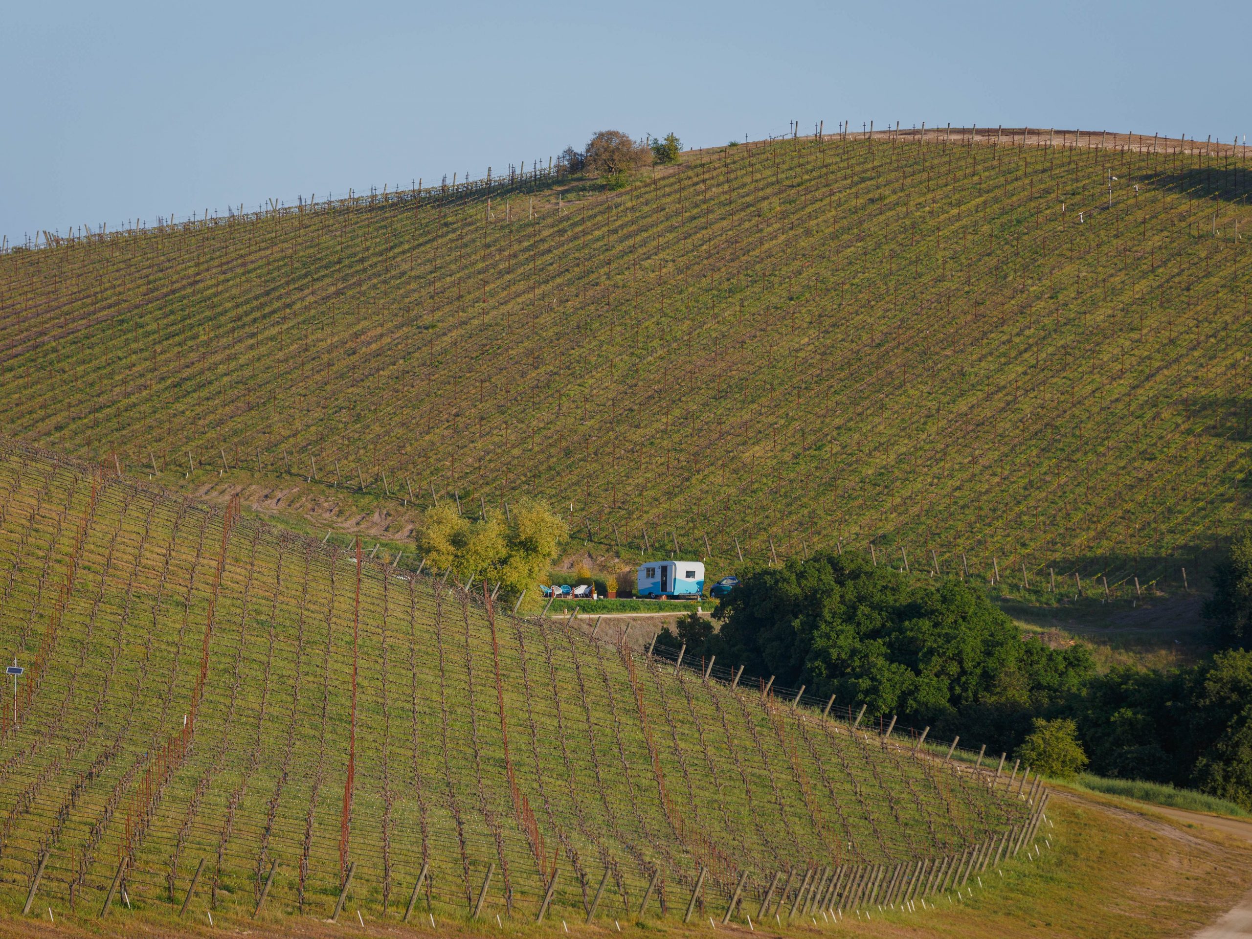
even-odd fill
[(716, 616), (699, 654), (967, 739), (1020, 739), (1094, 670), (1085, 646), (1022, 641), (967, 583), (921, 582), (859, 552), (749, 570)]

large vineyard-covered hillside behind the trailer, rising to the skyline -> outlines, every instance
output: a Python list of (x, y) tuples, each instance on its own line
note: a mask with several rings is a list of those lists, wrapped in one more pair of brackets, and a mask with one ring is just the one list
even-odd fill
[(727, 561), (1146, 581), (1249, 520), (1246, 148), (855, 136), (53, 237), (3, 427)]

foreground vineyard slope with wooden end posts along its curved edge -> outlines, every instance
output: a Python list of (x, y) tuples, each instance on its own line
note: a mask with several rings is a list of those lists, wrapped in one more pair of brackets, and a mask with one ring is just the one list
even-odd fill
[(0, 699), (5, 909), (326, 918), (349, 870), (372, 919), (536, 916), (546, 895), (682, 915), (692, 890), (722, 915), (736, 886), (749, 915), (850, 909), (963, 883), (1045, 801), (1008, 767), (13, 446), (0, 587), (0, 652), (26, 669)]

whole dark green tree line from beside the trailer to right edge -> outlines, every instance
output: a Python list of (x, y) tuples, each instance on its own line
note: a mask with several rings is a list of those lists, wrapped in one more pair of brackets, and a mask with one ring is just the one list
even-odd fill
[(1090, 647), (1023, 637), (979, 588), (921, 581), (856, 551), (747, 570), (712, 622), (660, 645), (742, 662), (780, 686), (899, 715), (1037, 769), (1194, 788), (1252, 808), (1252, 535), (1204, 605), (1217, 651), (1186, 667), (1099, 671)]

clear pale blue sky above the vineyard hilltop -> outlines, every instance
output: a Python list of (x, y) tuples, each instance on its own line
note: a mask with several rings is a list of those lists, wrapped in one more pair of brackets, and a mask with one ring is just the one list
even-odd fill
[(1252, 3), (8, 4), (0, 234), (255, 208), (596, 130), (1252, 131)]

